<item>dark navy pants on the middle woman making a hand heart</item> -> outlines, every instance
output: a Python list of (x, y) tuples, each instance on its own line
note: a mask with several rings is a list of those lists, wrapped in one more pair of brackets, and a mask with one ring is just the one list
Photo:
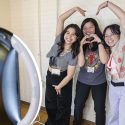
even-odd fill
[(74, 125), (81, 125), (83, 109), (85, 107), (90, 90), (94, 100), (96, 125), (105, 125), (105, 100), (107, 83), (105, 82), (100, 85), (86, 85), (80, 81), (77, 81), (76, 86)]

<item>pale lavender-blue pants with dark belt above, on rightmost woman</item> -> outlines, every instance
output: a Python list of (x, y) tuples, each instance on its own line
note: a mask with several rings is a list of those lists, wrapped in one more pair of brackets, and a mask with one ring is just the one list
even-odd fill
[(125, 86), (109, 85), (111, 117), (108, 125), (125, 125)]

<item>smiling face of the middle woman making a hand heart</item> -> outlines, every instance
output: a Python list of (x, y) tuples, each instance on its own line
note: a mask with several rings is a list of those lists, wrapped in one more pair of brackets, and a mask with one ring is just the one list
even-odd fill
[(95, 34), (95, 26), (92, 22), (87, 22), (82, 29), (84, 35)]

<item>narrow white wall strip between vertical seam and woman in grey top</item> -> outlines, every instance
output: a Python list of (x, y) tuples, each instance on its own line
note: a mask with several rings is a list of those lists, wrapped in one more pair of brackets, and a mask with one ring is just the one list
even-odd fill
[(55, 29), (57, 21), (57, 0), (41, 0), (40, 3), (40, 28), (41, 28), (41, 73), (43, 82), (43, 102), (42, 105), (45, 106), (45, 78), (46, 71), (48, 67), (48, 59), (46, 54), (53, 44), (55, 38)]

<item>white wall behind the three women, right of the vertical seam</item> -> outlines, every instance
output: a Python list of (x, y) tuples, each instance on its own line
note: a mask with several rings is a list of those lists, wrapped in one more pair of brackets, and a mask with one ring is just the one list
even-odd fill
[[(114, 16), (114, 14), (109, 9), (102, 10), (100, 12), (100, 15), (96, 16), (97, 7), (103, 1), (104, 0), (93, 0), (93, 1), (92, 0), (87, 0), (87, 1), (86, 0), (60, 0), (57, 2), (57, 5), (55, 5), (55, 2), (53, 1), (54, 6), (49, 6), (49, 4), (52, 4), (51, 1), (42, 0), (43, 5), (45, 5), (44, 7), (42, 6), (44, 8), (42, 9), (42, 12), (44, 13), (42, 21), (44, 22), (46, 20), (43, 23), (44, 31), (41, 32), (42, 35), (45, 34), (42, 36), (43, 41), (41, 43), (41, 45), (43, 46), (41, 47), (41, 49), (43, 50), (41, 62), (43, 65), (42, 78), (44, 81), (45, 81), (45, 75), (46, 75), (46, 70), (47, 70), (47, 65), (48, 65), (48, 62), (47, 62), (48, 60), (45, 58), (45, 54), (49, 50), (50, 46), (53, 44), (54, 33), (55, 33), (55, 28), (56, 28), (55, 22), (57, 19), (56, 16), (60, 15), (61, 13), (65, 12), (66, 10), (74, 6), (80, 6), (81, 8), (87, 10), (86, 17), (94, 17), (95, 19), (97, 19), (101, 27), (101, 30), (103, 30), (104, 27), (108, 24), (119, 23), (119, 20), (116, 18), (116, 16)], [(110, 0), (110, 1), (116, 3), (117, 5), (119, 5), (125, 10), (124, 0), (119, 0), (119, 1)], [(48, 6), (50, 8), (48, 8)], [(48, 11), (46, 12), (46, 10)], [(57, 11), (57, 13), (55, 11)], [(79, 13), (75, 13), (66, 21), (66, 25), (69, 23), (77, 23), (80, 26), (82, 20), (85, 19), (86, 17), (82, 17)], [(74, 82), (74, 87), (73, 87), (73, 99), (75, 96), (75, 84), (76, 84), (77, 74), (78, 72), (76, 73), (76, 77), (74, 79), (75, 82)], [(108, 106), (109, 104), (107, 101), (107, 107)], [(72, 114), (73, 114), (73, 110), (74, 110), (74, 104), (72, 104)], [(109, 112), (109, 108), (107, 108), (107, 111)], [(107, 119), (108, 117), (109, 117), (109, 114), (107, 114)], [(95, 112), (94, 112), (93, 100), (91, 98), (91, 95), (89, 99), (87, 100), (86, 108), (84, 109), (83, 118), (90, 120), (90, 121), (95, 121)]]

